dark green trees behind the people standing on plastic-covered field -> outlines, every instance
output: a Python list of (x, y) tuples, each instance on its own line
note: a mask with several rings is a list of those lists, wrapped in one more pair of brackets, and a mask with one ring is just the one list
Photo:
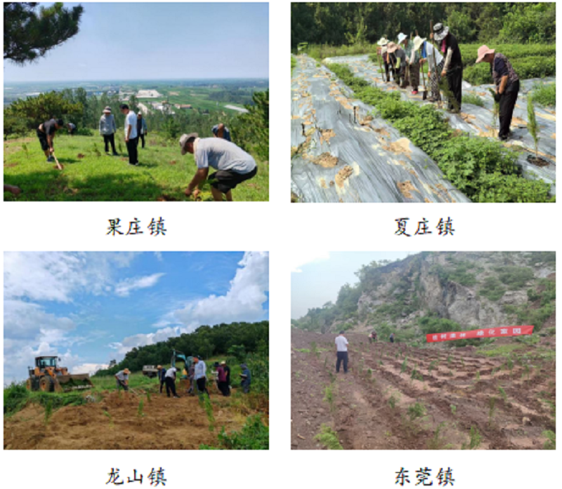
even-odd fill
[(556, 3), (420, 2), (294, 3), (291, 5), (291, 47), (299, 43), (331, 46), (375, 43), (399, 32), (429, 35), (429, 22), (443, 22), (459, 43), (555, 43)]

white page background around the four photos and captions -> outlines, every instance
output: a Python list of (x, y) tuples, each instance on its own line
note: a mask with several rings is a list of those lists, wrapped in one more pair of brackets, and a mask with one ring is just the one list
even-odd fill
[[(558, 204), (290, 204), (289, 48), (290, 3), (272, 1), (269, 203), (0, 203), (2, 251), (269, 250), (270, 450), (4, 450), (0, 455), (3, 487), (110, 487), (105, 482), (111, 467), (119, 467), (124, 476), (132, 476), (133, 469), (146, 476), (152, 467), (163, 467), (166, 488), (394, 488), (399, 487), (394, 472), (400, 467), (410, 469), (411, 483), (405, 487), (412, 488), (419, 467), (429, 467), (433, 474), (440, 467), (451, 467), (455, 488), (560, 487), (560, 456), (554, 451), (290, 450), (291, 255), (306, 250), (560, 250), (561, 241)], [(186, 183), (190, 176), (186, 175)], [(127, 223), (138, 217), (148, 223), (160, 216), (166, 220), (166, 236), (105, 234), (110, 218)], [(432, 227), (440, 217), (452, 217), (456, 232), (454, 236), (438, 236), (435, 230), (429, 236), (395, 236), (394, 220), (399, 217), (410, 217), (412, 234), (424, 217)], [(141, 487), (150, 485), (145, 481)]]

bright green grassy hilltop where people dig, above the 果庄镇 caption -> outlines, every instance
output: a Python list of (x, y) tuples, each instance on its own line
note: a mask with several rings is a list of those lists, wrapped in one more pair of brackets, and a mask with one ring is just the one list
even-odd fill
[[(122, 138), (116, 135), (117, 151)], [(22, 144), (27, 145), (29, 158)], [(149, 134), (145, 149), (139, 148), (140, 165), (130, 166), (126, 154), (107, 156), (100, 136), (67, 136), (55, 138), (55, 163), (46, 163), (37, 138), (10, 139), (4, 142), (4, 182), (16, 185), (22, 193), (15, 197), (4, 193), (6, 201), (192, 201), (183, 193), (195, 174), (192, 154), (181, 156), (177, 141), (166, 141)], [(124, 142), (122, 152), (126, 152)], [(84, 157), (79, 158), (78, 155)], [(100, 154), (100, 156), (98, 156)], [(233, 190), (235, 201), (267, 201), (269, 194), (268, 164), (258, 163), (256, 177), (242, 182)], [(212, 172), (211, 172), (212, 173)], [(210, 186), (202, 185), (200, 198), (212, 200)], [(157, 216), (156, 216), (157, 217)], [(128, 226), (128, 223), (124, 223)], [(141, 223), (143, 227), (148, 222)], [(126, 232), (129, 228), (125, 229)], [(146, 229), (144, 229), (146, 232)]]

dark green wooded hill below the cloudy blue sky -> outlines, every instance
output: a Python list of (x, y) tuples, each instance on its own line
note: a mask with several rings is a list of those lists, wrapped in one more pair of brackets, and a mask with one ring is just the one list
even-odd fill
[(131, 372), (143, 370), (145, 365), (169, 364), (172, 350), (182, 351), (187, 356), (200, 355), (234, 356), (244, 361), (247, 354), (269, 354), (269, 321), (259, 323), (221, 323), (216, 326), (201, 326), (193, 333), (183, 333), (166, 341), (135, 347), (112, 368), (98, 370), (96, 375), (115, 375), (124, 368)]

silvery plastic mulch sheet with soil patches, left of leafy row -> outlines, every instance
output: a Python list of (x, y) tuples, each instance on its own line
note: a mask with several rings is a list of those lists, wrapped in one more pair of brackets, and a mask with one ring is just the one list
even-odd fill
[(292, 78), (292, 198), (301, 202), (470, 202), (436, 163), (326, 67)]

